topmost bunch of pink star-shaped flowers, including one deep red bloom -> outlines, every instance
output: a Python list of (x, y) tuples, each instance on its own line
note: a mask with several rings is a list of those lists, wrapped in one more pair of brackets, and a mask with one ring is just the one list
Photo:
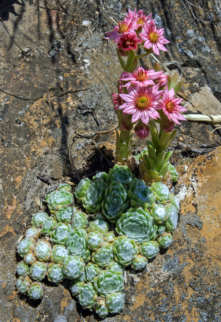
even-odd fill
[(159, 50), (164, 52), (167, 49), (164, 44), (170, 43), (164, 38), (164, 29), (157, 29), (155, 19), (152, 19), (152, 14), (146, 16), (143, 10), (136, 12), (128, 10), (124, 21), (120, 21), (114, 27), (114, 31), (106, 33), (110, 39), (114, 39), (117, 43), (117, 48), (122, 56), (126, 52), (137, 51), (137, 45), (142, 43), (146, 50), (152, 50), (159, 55)]

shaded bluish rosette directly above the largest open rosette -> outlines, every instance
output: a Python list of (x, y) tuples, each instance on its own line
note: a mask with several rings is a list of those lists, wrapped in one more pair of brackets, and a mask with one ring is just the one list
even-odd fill
[(132, 207), (152, 208), (155, 205), (155, 194), (143, 180), (134, 178), (129, 183), (128, 198)]

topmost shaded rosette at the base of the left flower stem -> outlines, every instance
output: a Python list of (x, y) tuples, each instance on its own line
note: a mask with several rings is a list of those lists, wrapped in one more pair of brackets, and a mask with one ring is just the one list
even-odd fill
[(131, 170), (127, 166), (118, 166), (116, 164), (106, 177), (106, 182), (108, 185), (113, 181), (129, 184), (130, 181), (134, 179), (135, 175), (132, 174)]

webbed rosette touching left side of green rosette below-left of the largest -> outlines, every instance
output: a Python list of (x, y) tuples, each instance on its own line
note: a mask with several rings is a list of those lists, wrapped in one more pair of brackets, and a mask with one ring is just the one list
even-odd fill
[(92, 253), (92, 261), (100, 267), (107, 267), (113, 260), (113, 248), (110, 243), (105, 243), (101, 248)]

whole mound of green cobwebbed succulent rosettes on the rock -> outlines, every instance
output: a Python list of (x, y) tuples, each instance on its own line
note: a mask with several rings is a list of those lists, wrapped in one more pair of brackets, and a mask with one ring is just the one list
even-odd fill
[[(179, 203), (163, 183), (147, 186), (118, 165), (76, 186), (85, 213), (72, 206), (73, 197), (64, 184), (45, 195), (49, 212), (33, 215), (17, 245), (23, 258), (16, 269), (17, 290), (39, 299), (43, 279), (70, 279), (82, 307), (104, 318), (124, 307), (125, 267), (142, 270), (159, 248), (171, 244)], [(109, 231), (113, 223), (116, 228)]]

